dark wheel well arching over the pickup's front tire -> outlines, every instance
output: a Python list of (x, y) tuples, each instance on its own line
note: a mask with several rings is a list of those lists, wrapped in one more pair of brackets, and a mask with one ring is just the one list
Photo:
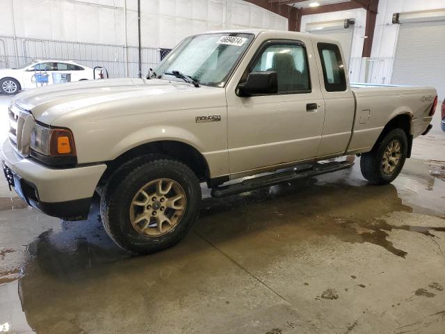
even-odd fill
[(145, 154), (163, 154), (183, 162), (193, 170), (200, 182), (207, 181), (210, 178), (207, 161), (198, 150), (193, 148), (193, 146), (181, 143), (180, 141), (154, 141), (132, 148), (113, 161), (109, 161), (107, 163), (108, 168), (106, 168), (106, 172), (99, 183), (102, 184), (106, 182), (113, 171), (127, 161)]

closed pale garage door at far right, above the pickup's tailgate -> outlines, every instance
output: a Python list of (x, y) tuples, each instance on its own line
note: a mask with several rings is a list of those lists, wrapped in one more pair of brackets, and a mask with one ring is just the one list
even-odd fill
[(445, 98), (445, 21), (401, 24), (393, 84), (432, 86)]

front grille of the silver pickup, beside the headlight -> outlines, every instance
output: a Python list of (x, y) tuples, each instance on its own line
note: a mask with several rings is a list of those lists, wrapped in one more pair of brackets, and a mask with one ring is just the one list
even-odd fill
[(8, 108), (8, 116), (10, 142), (17, 153), (22, 157), (27, 157), (29, 154), (29, 138), (34, 123), (33, 116), (29, 111), (22, 109), (14, 102)]

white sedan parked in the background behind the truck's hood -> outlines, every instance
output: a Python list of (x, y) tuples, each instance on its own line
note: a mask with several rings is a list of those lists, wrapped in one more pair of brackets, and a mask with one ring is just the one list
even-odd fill
[(33, 61), (20, 67), (0, 70), (0, 93), (15, 95), (23, 89), (56, 84), (60, 78), (56, 74), (71, 74), (68, 76), (70, 81), (94, 79), (92, 68), (72, 61)]

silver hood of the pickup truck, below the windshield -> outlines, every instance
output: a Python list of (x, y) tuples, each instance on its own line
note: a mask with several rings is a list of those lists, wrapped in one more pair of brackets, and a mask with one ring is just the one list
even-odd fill
[(220, 88), (196, 88), (186, 82), (161, 79), (102, 79), (27, 90), (17, 95), (15, 103), (22, 109), (31, 111), (36, 120), (51, 124), (70, 111), (116, 100), (137, 100), (149, 95), (193, 94), (209, 89)]

